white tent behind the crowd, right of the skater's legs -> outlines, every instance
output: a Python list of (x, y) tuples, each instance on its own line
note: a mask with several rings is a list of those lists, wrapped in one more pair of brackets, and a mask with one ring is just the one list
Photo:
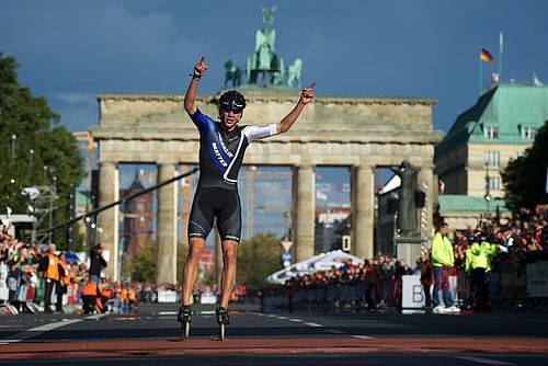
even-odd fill
[(343, 252), (342, 250), (333, 250), (331, 252), (315, 255), (308, 260), (294, 263), (284, 270), (275, 272), (266, 277), (266, 281), (273, 284), (284, 284), (287, 279), (295, 276), (304, 276), (319, 271), (339, 268), (344, 264), (344, 261), (352, 260), (353, 264), (363, 264), (364, 261), (357, 256)]

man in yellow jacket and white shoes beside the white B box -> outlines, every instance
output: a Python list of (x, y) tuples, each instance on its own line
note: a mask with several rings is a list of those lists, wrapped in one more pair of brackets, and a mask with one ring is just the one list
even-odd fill
[[(460, 312), (460, 309), (454, 305), (453, 296), (449, 290), (449, 275), (453, 270), (455, 254), (453, 245), (447, 238), (449, 226), (447, 222), (439, 222), (437, 231), (431, 241), (431, 262), (434, 270), (434, 293), (432, 296), (432, 309), (435, 313)], [(445, 307), (439, 302), (439, 290), (442, 290)]]

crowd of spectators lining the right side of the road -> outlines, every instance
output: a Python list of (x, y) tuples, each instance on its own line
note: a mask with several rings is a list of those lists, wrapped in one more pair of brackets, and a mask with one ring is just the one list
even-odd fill
[[(496, 245), (498, 254), (492, 258), (490, 268), (496, 277), (501, 263), (524, 266), (527, 263), (548, 260), (547, 220), (548, 205), (539, 205), (534, 210), (521, 209), (506, 220), (494, 217), (469, 230), (454, 230), (453, 275), (457, 276), (457, 287), (461, 289), (460, 296), (472, 296), (469, 293), (469, 278), (465, 272), (466, 251), (472, 238), (476, 240), (481, 238)], [(285, 285), (266, 288), (263, 294), (263, 306), (265, 310), (289, 311), (295, 307), (317, 310), (400, 308), (402, 276), (416, 274), (421, 276), (421, 284), (425, 289), (425, 309), (430, 310), (431, 299), (427, 289), (434, 284), (434, 275), (429, 254), (423, 252), (411, 266), (402, 260), (380, 255), (367, 259), (359, 265), (349, 261), (329, 271), (296, 276), (288, 279)], [(500, 296), (500, 282), (493, 281), (493, 286), (490, 288), (492, 298)]]

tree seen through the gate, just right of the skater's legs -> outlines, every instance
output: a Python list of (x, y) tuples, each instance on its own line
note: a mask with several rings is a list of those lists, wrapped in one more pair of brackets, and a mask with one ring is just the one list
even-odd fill
[(283, 249), (273, 233), (260, 233), (238, 247), (238, 284), (254, 290), (269, 285), (266, 276), (282, 270)]

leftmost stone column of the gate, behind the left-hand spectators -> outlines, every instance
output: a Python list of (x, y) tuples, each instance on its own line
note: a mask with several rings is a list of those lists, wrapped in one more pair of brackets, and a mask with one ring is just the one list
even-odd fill
[[(112, 161), (99, 162), (99, 206), (118, 201), (119, 180), (118, 167)], [(105, 275), (113, 281), (119, 279), (119, 248), (118, 248), (118, 206), (114, 206), (99, 214), (96, 235), (99, 242), (104, 247), (103, 256), (107, 266)]]

